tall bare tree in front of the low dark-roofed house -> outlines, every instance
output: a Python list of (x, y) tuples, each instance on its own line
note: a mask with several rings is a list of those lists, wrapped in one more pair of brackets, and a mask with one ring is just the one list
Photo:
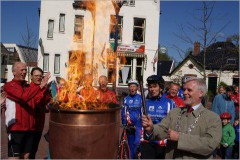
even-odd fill
[[(202, 13), (202, 16), (194, 16), (191, 14), (194, 18), (194, 20), (198, 21), (201, 25), (197, 25), (199, 23), (187, 23), (186, 25), (179, 25), (180, 34), (174, 33), (174, 35), (181, 39), (183, 42), (190, 44), (191, 46), (194, 45), (195, 41), (199, 41), (201, 44), (201, 48), (203, 49), (203, 73), (200, 72), (200, 74), (204, 77), (204, 80), (206, 81), (206, 49), (211, 44), (216, 42), (218, 38), (221, 37), (220, 32), (229, 24), (230, 21), (228, 21), (225, 25), (220, 27), (218, 30), (213, 30), (213, 24), (214, 20), (217, 19), (217, 17), (213, 17), (213, 10), (215, 7), (216, 2), (202, 2), (202, 7), (198, 9)], [(219, 15), (222, 16), (222, 15)], [(223, 17), (223, 16), (222, 16)], [(194, 25), (196, 24), (196, 25)], [(199, 39), (192, 39), (191, 34), (195, 34)], [(179, 54), (185, 54), (182, 50), (180, 50), (178, 46), (173, 45), (173, 47), (178, 51)], [(181, 56), (184, 57), (184, 56)]]

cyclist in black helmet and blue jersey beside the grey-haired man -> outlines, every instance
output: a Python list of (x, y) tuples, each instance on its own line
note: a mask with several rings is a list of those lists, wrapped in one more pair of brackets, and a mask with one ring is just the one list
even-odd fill
[[(151, 116), (153, 124), (160, 123), (168, 112), (175, 108), (174, 101), (163, 95), (164, 80), (157, 75), (147, 78), (150, 97), (146, 100), (147, 114)], [(164, 159), (166, 140), (143, 142), (140, 146), (141, 159)]]

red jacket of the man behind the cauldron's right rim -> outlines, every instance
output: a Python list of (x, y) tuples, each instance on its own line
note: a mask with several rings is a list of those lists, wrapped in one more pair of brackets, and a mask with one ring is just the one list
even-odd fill
[(100, 102), (102, 103), (117, 103), (117, 97), (115, 93), (111, 90), (102, 91), (98, 90), (100, 93)]

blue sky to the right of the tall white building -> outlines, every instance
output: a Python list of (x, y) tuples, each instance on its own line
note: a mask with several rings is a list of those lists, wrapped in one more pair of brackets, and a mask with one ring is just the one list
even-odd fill
[[(186, 26), (186, 23), (197, 24), (201, 26), (198, 19), (193, 18), (192, 15), (201, 16), (199, 9), (202, 9), (201, 1), (161, 1), (160, 8), (162, 14), (160, 15), (160, 30), (159, 30), (159, 44), (168, 48), (168, 54), (174, 57), (176, 61), (181, 61), (181, 57), (173, 45), (181, 47), (186, 51), (188, 48), (193, 48), (192, 45), (186, 44), (183, 40), (178, 39), (174, 33), (180, 34), (179, 25)], [(198, 11), (197, 11), (198, 10)], [(225, 24), (228, 25), (221, 31), (221, 38), (218, 41), (225, 41), (226, 38), (232, 34), (239, 34), (239, 2), (238, 1), (217, 1), (212, 12), (214, 17), (212, 31), (218, 31)], [(189, 32), (193, 41), (200, 41), (199, 36), (195, 36)]]

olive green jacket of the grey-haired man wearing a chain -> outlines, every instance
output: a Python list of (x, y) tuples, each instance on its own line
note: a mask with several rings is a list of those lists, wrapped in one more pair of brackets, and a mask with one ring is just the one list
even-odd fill
[[(189, 127), (190, 125), (192, 127)], [(177, 142), (168, 140), (165, 157), (167, 159), (212, 158), (212, 152), (222, 138), (219, 116), (202, 105), (192, 113), (187, 113), (187, 108), (172, 109), (161, 123), (154, 125), (151, 139), (167, 138), (169, 128), (180, 134)], [(189, 128), (191, 131), (187, 132)]]

